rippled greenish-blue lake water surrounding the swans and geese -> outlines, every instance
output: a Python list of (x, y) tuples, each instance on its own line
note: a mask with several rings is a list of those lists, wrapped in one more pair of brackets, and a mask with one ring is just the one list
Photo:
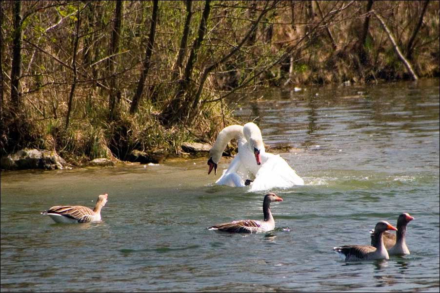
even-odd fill
[[(1, 172), (1, 292), (439, 292), (439, 80), (272, 90), (243, 98), (269, 147), (304, 179), (275, 189), (274, 231), (205, 228), (261, 219), (264, 193), (217, 186), (206, 160)], [(221, 169), (230, 159), (222, 159)], [(40, 212), (94, 206), (103, 221)], [(409, 256), (345, 263), (379, 220), (407, 229)]]

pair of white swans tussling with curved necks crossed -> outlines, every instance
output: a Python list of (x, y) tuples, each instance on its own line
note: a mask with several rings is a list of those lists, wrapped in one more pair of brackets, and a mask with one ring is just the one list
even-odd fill
[(214, 147), (209, 151), (209, 170), (217, 171), (221, 154), (232, 139), (237, 139), (239, 152), (216, 182), (219, 185), (242, 187), (251, 184), (250, 191), (287, 188), (303, 185), (304, 181), (279, 155), (266, 153), (260, 128), (250, 122), (243, 127), (231, 125), (220, 131)]

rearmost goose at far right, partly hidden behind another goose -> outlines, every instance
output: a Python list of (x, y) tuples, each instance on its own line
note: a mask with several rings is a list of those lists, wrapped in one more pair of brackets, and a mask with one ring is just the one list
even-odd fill
[[(397, 219), (397, 232), (396, 232), (397, 237), (393, 233), (387, 231), (385, 231), (382, 234), (383, 244), (385, 245), (385, 248), (388, 250), (388, 254), (390, 256), (410, 254), (409, 249), (406, 246), (405, 233), (406, 233), (406, 225), (412, 220), (414, 220), (414, 218), (411, 217), (408, 213), (403, 213)], [(370, 232), (371, 232), (371, 245), (374, 245), (376, 239), (374, 237), (375, 230), (372, 230)]]

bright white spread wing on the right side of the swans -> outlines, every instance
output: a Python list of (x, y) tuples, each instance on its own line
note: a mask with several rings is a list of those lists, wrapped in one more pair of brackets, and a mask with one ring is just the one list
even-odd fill
[(269, 190), (272, 188), (288, 188), (304, 185), (300, 176), (280, 157), (271, 153), (263, 155), (265, 161), (250, 187), (250, 191)]

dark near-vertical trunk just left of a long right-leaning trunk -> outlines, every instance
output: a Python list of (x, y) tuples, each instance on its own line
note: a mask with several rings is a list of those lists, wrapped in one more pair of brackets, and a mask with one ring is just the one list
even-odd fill
[(112, 32), (112, 41), (110, 43), (110, 57), (108, 58), (108, 72), (110, 73), (110, 94), (109, 94), (109, 120), (112, 121), (115, 117), (116, 109), (116, 96), (118, 95), (118, 79), (116, 77), (116, 61), (115, 54), (119, 51), (119, 39), (122, 26), (122, 10), (123, 2), (121, 0), (116, 1), (115, 19)]

